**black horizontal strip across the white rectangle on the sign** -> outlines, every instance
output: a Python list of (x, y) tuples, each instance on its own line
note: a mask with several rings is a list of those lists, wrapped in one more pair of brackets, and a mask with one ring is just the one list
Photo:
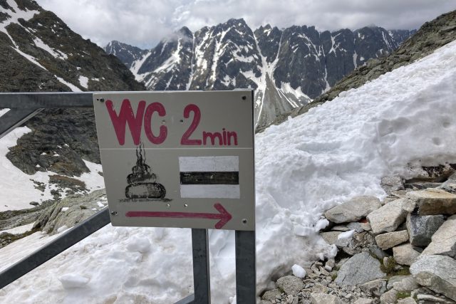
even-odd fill
[(239, 172), (180, 172), (180, 184), (239, 184)]

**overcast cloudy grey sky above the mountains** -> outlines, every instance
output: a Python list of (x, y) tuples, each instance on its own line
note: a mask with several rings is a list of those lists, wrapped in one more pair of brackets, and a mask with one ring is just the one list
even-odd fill
[(316, 26), (320, 31), (373, 25), (419, 28), (456, 9), (456, 0), (37, 0), (99, 46), (112, 40), (152, 48), (172, 31), (197, 31), (230, 18), (258, 26)]

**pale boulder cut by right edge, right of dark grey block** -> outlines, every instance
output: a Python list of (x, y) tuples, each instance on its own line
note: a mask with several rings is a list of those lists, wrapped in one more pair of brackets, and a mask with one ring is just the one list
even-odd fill
[(432, 241), (423, 254), (451, 256), (456, 258), (456, 215), (450, 216), (432, 236)]

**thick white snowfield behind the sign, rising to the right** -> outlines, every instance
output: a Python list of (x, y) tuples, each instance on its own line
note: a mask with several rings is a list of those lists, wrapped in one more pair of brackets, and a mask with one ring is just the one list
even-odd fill
[[(413, 167), (456, 162), (455, 52), (456, 41), (257, 135), (258, 293), (294, 264), (336, 253), (316, 231), (323, 211), (353, 196), (383, 198), (387, 174), (413, 177)], [(0, 254), (19, 259), (47, 239), (32, 234)], [(190, 229), (106, 226), (0, 290), (0, 298), (174, 303), (192, 292), (190, 243)], [(211, 230), (209, 243), (213, 302), (229, 303), (234, 231)], [(12, 262), (2, 258), (0, 268)]]

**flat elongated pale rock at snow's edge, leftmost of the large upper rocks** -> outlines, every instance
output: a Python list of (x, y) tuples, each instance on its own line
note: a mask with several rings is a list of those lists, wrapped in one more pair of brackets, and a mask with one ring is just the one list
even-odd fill
[(356, 196), (329, 209), (325, 212), (325, 216), (334, 223), (358, 221), (380, 206), (380, 199), (375, 196)]

